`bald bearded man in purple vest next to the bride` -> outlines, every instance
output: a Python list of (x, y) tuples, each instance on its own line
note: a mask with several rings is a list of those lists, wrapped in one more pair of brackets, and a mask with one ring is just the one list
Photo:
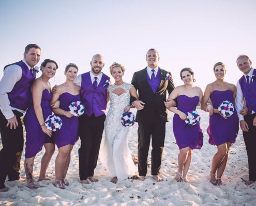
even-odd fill
[(97, 182), (94, 169), (97, 165), (99, 148), (106, 119), (108, 102), (107, 88), (110, 78), (101, 72), (104, 62), (99, 54), (91, 61), (91, 72), (78, 75), (74, 83), (81, 87), (81, 100), (85, 112), (79, 117), (79, 136), (81, 147), (79, 154), (79, 176), (81, 183)]

